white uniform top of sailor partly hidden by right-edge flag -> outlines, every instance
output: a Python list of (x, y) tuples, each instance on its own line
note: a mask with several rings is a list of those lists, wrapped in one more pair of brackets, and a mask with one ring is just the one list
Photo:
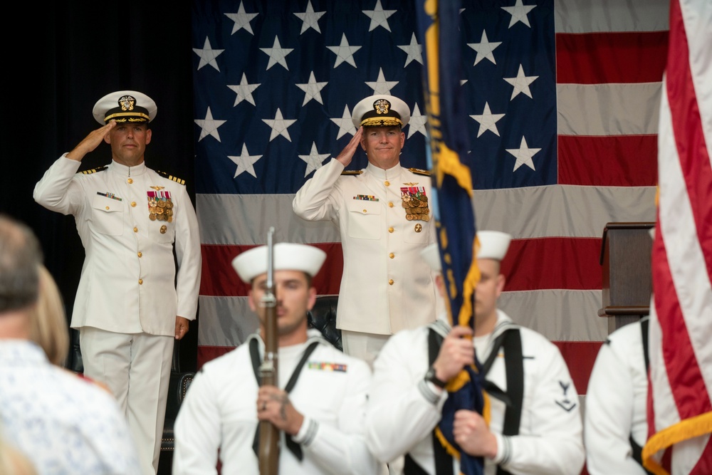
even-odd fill
[(584, 438), (588, 473), (644, 475), (629, 437), (648, 436), (648, 377), (640, 323), (611, 333), (598, 352), (586, 393)]

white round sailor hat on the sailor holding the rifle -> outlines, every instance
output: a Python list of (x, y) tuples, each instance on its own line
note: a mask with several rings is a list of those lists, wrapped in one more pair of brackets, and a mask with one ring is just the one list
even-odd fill
[[(275, 271), (302, 271), (313, 277), (326, 259), (326, 253), (308, 244), (281, 242), (273, 248)], [(259, 246), (239, 254), (232, 260), (232, 266), (243, 282), (267, 273), (267, 246)]]

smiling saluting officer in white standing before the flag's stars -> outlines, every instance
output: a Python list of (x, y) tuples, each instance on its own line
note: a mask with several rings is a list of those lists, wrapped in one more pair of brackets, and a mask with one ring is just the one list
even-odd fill
[[(297, 192), (294, 212), (340, 229), (344, 269), (337, 328), (345, 353), (369, 363), (390, 335), (435, 319), (434, 273), (419, 256), (436, 241), (431, 177), (400, 165), (402, 127), (410, 110), (392, 95), (372, 95), (354, 108), (358, 132), (342, 152)], [(344, 172), (357, 147), (368, 165)]]

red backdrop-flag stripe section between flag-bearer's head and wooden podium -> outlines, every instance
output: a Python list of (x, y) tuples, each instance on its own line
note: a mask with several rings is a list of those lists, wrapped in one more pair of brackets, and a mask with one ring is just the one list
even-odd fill
[(506, 291), (600, 289), (602, 239), (513, 239), (502, 261)]

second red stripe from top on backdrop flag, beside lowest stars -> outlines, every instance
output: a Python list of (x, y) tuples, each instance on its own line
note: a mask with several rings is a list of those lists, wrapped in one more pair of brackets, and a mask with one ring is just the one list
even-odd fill
[(653, 187), (657, 135), (558, 136), (558, 181), (600, 187)]

